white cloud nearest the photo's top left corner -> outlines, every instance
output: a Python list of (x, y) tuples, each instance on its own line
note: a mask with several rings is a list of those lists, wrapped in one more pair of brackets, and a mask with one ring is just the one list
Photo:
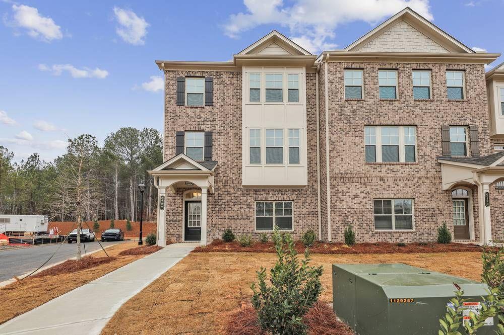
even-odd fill
[(24, 28), (29, 36), (45, 42), (63, 38), (61, 27), (51, 18), (41, 16), (35, 7), (12, 5), (12, 10), (13, 20), (8, 25)]

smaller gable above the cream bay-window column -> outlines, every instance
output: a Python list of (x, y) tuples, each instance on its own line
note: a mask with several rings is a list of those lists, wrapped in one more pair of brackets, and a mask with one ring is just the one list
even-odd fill
[(238, 55), (311, 55), (309, 51), (303, 49), (278, 31), (273, 30), (258, 41), (250, 44), (245, 49), (238, 52)]

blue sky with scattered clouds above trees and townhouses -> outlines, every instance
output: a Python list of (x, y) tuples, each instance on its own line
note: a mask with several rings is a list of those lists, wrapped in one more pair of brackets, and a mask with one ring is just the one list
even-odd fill
[[(504, 52), (504, 0), (0, 0), (0, 145), (52, 160), (67, 135), (162, 130), (154, 60), (229, 60), (272, 29), (344, 48), (410, 6), (469, 47)], [(496, 65), (503, 57), (491, 66)]]

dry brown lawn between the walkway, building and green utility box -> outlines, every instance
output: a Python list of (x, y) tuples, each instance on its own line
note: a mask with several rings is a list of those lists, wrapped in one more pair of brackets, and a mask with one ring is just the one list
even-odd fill
[[(333, 263), (405, 263), (432, 271), (480, 280), (481, 254), (312, 255), (323, 265), (321, 301), (332, 301)], [(270, 268), (275, 254), (191, 253), (125, 303), (104, 334), (219, 333), (226, 319), (249, 301), (256, 270)], [(464, 269), (464, 271), (460, 271)]]

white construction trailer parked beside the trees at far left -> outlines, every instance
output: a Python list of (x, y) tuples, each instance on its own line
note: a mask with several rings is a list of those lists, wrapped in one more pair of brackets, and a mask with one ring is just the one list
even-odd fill
[(49, 220), (45, 215), (0, 214), (0, 233), (33, 232), (47, 233)]

